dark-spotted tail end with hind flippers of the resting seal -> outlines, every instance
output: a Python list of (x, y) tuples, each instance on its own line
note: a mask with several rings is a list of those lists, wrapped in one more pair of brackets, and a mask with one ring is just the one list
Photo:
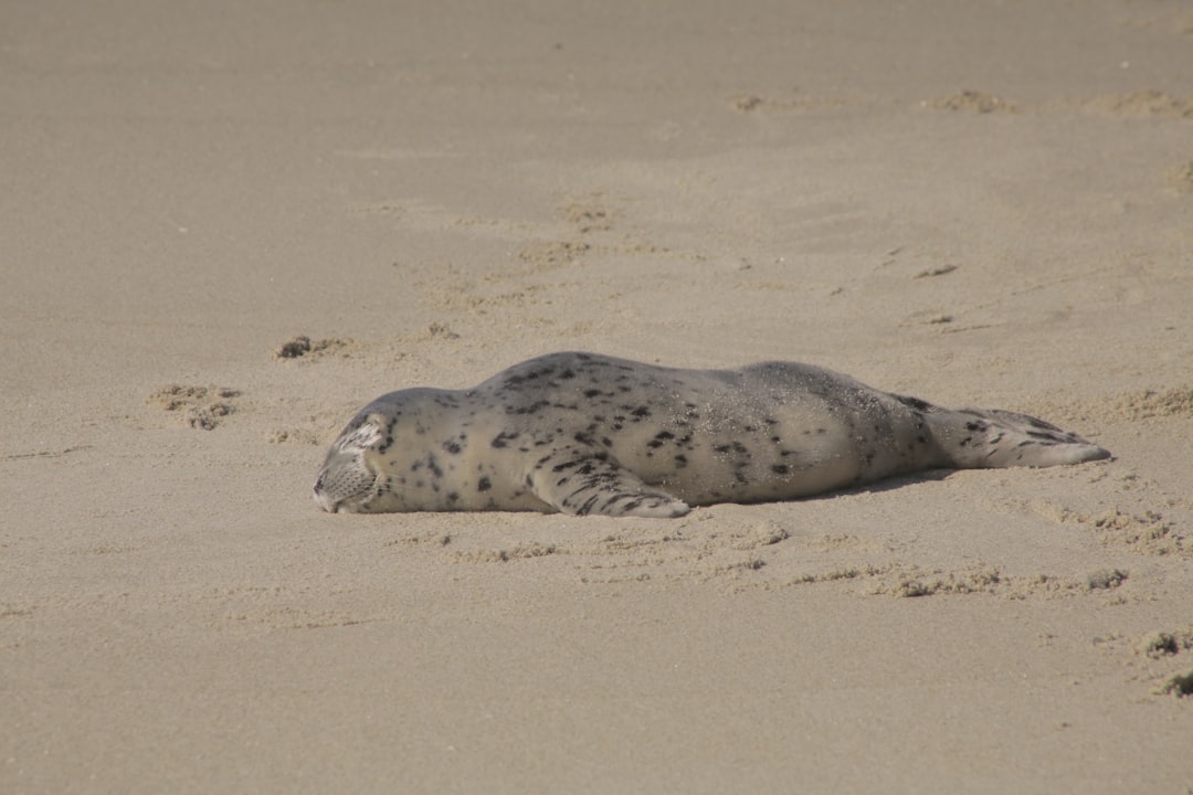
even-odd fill
[(925, 418), (941, 453), (959, 470), (1059, 466), (1111, 456), (1109, 451), (1026, 414), (940, 409)]

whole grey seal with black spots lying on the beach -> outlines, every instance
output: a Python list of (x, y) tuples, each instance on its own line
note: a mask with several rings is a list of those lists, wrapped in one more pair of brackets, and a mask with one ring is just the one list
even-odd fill
[(1036, 417), (942, 409), (811, 365), (675, 369), (555, 353), (470, 390), (377, 398), (332, 445), (315, 502), (673, 517), (921, 470), (1108, 456)]

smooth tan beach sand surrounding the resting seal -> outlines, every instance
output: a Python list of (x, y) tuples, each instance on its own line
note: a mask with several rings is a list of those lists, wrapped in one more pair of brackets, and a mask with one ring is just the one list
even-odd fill
[[(0, 790), (1193, 788), (1187, 4), (62, 0), (0, 64)], [(558, 349), (1115, 458), (315, 509), (364, 402)]]

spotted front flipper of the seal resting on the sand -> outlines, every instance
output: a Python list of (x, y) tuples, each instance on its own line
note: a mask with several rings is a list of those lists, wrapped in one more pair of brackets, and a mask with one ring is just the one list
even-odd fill
[(643, 483), (601, 452), (557, 449), (534, 462), (527, 476), (534, 495), (563, 514), (672, 518), (691, 508)]

